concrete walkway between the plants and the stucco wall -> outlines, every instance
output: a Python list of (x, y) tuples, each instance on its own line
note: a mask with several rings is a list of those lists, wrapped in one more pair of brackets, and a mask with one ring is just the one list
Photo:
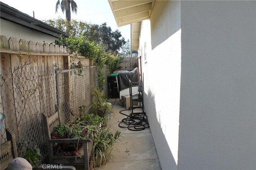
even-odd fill
[[(130, 131), (126, 128), (118, 127), (118, 123), (126, 118), (125, 115), (119, 113), (124, 110), (124, 107), (119, 106), (119, 99), (109, 99), (114, 116), (109, 121), (109, 126), (113, 129), (121, 131), (122, 142), (116, 143), (115, 146), (120, 149), (120, 152), (114, 151), (114, 158), (107, 164), (96, 168), (97, 170), (161, 170), (160, 162), (156, 152), (156, 147), (150, 128), (142, 131)], [(135, 109), (134, 112), (140, 112)], [(130, 111), (123, 111), (122, 113), (130, 115)], [(128, 153), (124, 152), (126, 149)]]

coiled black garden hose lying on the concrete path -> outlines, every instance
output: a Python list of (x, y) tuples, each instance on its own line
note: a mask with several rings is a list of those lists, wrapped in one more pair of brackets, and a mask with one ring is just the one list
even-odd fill
[[(127, 111), (126, 110), (121, 110), (119, 113), (122, 115), (126, 115), (122, 113), (122, 111)], [(122, 119), (120, 123), (118, 124), (119, 127), (121, 128), (128, 128), (130, 131), (142, 131), (144, 129), (149, 128), (148, 124), (148, 117), (146, 116), (146, 113), (131, 113), (130, 115), (126, 115), (127, 117)]]

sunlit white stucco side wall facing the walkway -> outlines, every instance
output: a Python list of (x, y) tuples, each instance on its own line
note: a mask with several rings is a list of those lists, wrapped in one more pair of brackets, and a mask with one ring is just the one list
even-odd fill
[(160, 163), (163, 170), (177, 169), (181, 72), (179, 1), (155, 2), (150, 21), (142, 22), (140, 49), (144, 105)]

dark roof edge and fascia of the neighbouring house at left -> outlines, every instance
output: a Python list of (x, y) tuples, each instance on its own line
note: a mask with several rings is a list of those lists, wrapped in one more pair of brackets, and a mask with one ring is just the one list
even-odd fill
[(47, 23), (44, 23), (27, 14), (24, 14), (23, 12), (20, 12), (19, 10), (16, 10), (15, 8), (8, 6), (7, 4), (4, 4), (3, 2), (0, 2), (0, 17), (1, 19), (8, 20), (10, 22), (25, 27), (29, 27), (31, 29), (35, 29), (37, 31), (52, 35), (57, 38), (58, 35), (62, 35), (64, 37), (69, 36), (68, 33), (60, 31), (59, 29), (56, 29)]

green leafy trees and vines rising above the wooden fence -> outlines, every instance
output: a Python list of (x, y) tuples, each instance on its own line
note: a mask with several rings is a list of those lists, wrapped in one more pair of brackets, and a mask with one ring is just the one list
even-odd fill
[[(60, 37), (56, 44), (66, 46), (70, 54), (80, 53), (93, 60), (98, 68), (99, 89), (104, 89), (106, 80), (103, 67), (107, 65), (109, 73), (112, 73), (118, 70), (122, 63), (122, 57), (118, 55), (118, 50), (126, 42), (120, 31), (112, 31), (106, 23), (97, 25), (76, 20), (67, 21), (61, 18), (45, 22), (62, 31), (68, 30), (70, 37)], [(82, 66), (79, 65), (78, 68), (82, 72)]]

